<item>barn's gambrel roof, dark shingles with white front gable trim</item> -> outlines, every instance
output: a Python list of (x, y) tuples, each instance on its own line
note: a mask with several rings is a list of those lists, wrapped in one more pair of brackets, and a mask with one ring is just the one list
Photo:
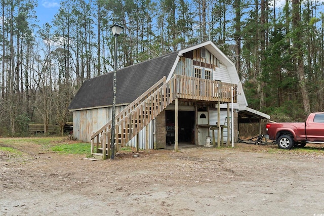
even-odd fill
[[(180, 57), (184, 53), (201, 47), (205, 47), (210, 53), (219, 59), (221, 64), (226, 66), (231, 83), (238, 85), (239, 95), (237, 96), (235, 109), (245, 110), (248, 106), (248, 102), (244, 95), (235, 65), (210, 40), (190, 48), (117, 70), (116, 105), (128, 105), (132, 103), (164, 76), (167, 77), (167, 80), (171, 79)], [(73, 111), (111, 106), (113, 99), (112, 87), (113, 72), (88, 79), (83, 83), (68, 109)], [(262, 117), (270, 118), (270, 116), (265, 114)]]

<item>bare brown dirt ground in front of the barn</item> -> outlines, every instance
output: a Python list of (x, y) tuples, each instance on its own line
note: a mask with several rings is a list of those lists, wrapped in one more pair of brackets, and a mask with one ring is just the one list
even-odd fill
[(324, 151), (314, 147), (236, 144), (91, 161), (20, 145), (19, 157), (0, 151), (0, 215), (324, 215)]

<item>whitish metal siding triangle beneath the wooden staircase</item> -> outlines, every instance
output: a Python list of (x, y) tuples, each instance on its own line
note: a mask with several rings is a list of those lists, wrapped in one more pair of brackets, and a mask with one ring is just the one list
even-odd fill
[[(148, 149), (153, 149), (153, 123), (154, 120), (151, 120), (147, 127), (148, 127)], [(139, 149), (146, 149), (145, 144), (146, 144), (146, 129), (145, 127), (140, 131), (140, 133), (138, 135), (136, 135), (132, 140), (130, 140), (127, 143), (127, 146), (131, 146), (131, 147), (136, 147), (136, 142), (137, 142), (137, 136), (138, 137), (138, 141), (139, 141)]]

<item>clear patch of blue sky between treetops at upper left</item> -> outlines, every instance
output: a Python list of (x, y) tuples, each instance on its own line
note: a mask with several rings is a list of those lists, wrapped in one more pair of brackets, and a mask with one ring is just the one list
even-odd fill
[(59, 0), (38, 0), (38, 7), (35, 8), (39, 26), (46, 22), (50, 23), (60, 7)]

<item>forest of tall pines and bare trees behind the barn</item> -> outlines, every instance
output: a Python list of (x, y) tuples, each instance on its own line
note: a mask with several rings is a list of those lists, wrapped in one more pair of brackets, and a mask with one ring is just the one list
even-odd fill
[(82, 83), (212, 40), (236, 65), (249, 107), (274, 121), (323, 111), (324, 13), (318, 0), (63, 0), (39, 26), (34, 0), (2, 0), (0, 136), (71, 121)]

